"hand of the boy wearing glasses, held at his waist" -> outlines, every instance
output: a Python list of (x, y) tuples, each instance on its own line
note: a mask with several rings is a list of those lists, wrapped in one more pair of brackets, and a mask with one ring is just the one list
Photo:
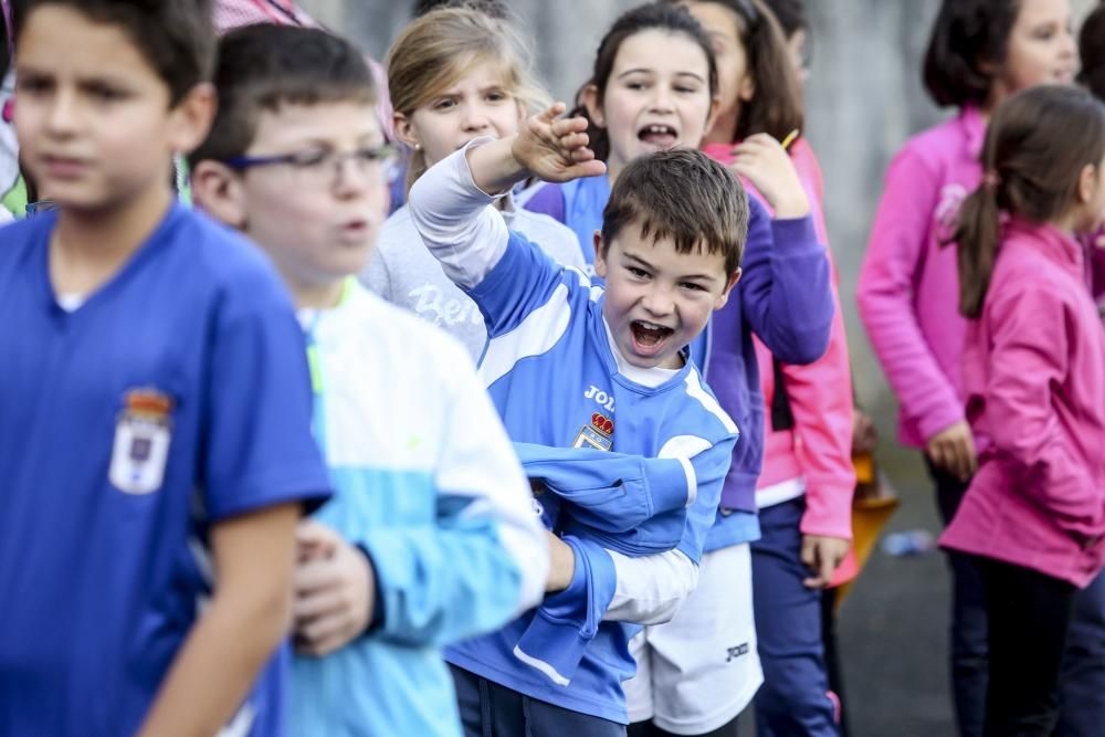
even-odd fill
[(368, 627), (376, 604), (375, 573), (360, 550), (325, 525), (301, 523), (296, 540), (301, 551), (312, 552), (295, 569), (296, 649), (320, 657)]

